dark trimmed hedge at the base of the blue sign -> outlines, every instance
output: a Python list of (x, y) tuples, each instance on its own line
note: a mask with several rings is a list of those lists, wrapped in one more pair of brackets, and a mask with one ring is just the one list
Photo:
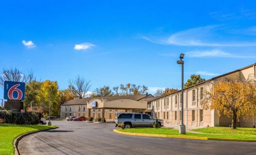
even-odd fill
[(7, 110), (0, 110), (1, 123), (12, 123), (18, 125), (37, 125), (42, 117), (38, 112), (12, 113)]

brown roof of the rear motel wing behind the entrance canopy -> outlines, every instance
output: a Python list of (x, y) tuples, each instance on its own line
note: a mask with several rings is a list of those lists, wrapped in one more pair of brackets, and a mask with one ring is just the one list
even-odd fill
[(127, 95), (127, 96), (110, 96), (110, 97), (89, 97), (89, 98), (81, 98), (81, 99), (75, 98), (73, 100), (65, 102), (62, 105), (84, 105), (84, 104), (87, 104), (87, 101), (92, 99), (107, 99), (108, 101), (119, 100), (119, 99), (129, 99), (129, 100), (139, 101), (149, 96), (152, 96), (152, 95), (149, 94), (147, 96), (146, 95)]

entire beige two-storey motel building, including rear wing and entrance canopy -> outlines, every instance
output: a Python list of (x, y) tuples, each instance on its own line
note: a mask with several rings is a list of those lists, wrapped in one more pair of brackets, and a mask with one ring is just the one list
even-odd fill
[[(205, 82), (184, 89), (184, 124), (188, 128), (230, 126), (231, 118), (214, 110), (203, 110), (200, 105), (204, 90), (213, 86), (211, 82), (220, 78), (232, 80), (254, 80), (256, 64), (238, 69)], [(256, 86), (256, 84), (255, 84)], [(107, 121), (114, 120), (117, 112), (147, 113), (154, 118), (164, 120), (164, 126), (180, 125), (181, 91), (173, 94), (153, 97), (152, 95), (114, 96), (96, 98), (75, 98), (61, 105), (61, 118), (68, 116), (104, 117)], [(103, 118), (102, 117), (102, 118)], [(255, 126), (255, 113), (252, 117), (244, 116), (237, 119), (238, 127)]]

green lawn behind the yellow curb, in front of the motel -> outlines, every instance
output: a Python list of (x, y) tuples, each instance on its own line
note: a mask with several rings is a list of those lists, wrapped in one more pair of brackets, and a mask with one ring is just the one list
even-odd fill
[[(132, 133), (150, 133), (150, 134), (167, 134), (167, 135), (180, 135), (178, 130), (170, 128), (131, 128), (131, 129), (117, 129), (122, 132)], [(202, 133), (190, 133), (188, 136), (202, 136), (202, 137), (217, 137), (217, 138), (239, 138), (239, 139), (256, 139), (256, 129), (253, 128), (237, 128), (232, 130), (228, 127), (211, 127), (195, 129), (193, 131)]]

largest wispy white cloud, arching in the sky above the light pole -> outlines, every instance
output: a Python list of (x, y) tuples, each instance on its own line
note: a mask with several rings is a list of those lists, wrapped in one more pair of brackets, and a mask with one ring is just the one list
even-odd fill
[[(232, 40), (232, 38), (225, 38), (223, 34), (226, 33), (222, 26), (212, 25), (182, 30), (165, 39), (153, 40), (148, 37), (142, 38), (153, 43), (178, 46), (256, 46), (255, 41), (236, 41)], [(221, 39), (216, 40), (216, 38), (222, 38), (222, 41), (219, 41)]]

